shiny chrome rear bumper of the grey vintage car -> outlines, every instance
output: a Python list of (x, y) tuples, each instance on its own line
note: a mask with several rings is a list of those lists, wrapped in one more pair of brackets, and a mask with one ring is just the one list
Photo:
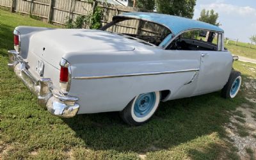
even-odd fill
[(28, 69), (26, 63), (16, 51), (8, 51), (9, 70), (22, 79), (23, 83), (38, 96), (38, 104), (44, 106), (52, 115), (70, 118), (77, 115), (79, 104), (76, 97), (69, 97), (63, 93), (54, 90), (52, 81), (49, 78), (35, 79)]

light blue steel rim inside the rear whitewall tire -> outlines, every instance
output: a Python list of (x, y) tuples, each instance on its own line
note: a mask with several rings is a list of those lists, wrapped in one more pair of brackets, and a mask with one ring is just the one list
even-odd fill
[(156, 104), (156, 93), (143, 93), (138, 96), (134, 103), (134, 115), (143, 118), (152, 111)]

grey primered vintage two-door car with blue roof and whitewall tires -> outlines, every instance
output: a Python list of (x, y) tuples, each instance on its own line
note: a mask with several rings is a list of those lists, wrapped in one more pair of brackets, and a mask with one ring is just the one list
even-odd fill
[(234, 98), (241, 86), (223, 29), (197, 20), (130, 12), (99, 30), (18, 26), (13, 33), (9, 68), (39, 104), (65, 118), (119, 111), (141, 125), (160, 101), (219, 90)]

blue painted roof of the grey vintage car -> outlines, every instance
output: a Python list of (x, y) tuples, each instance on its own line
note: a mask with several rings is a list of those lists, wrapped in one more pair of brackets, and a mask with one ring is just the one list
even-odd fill
[(173, 35), (188, 30), (188, 29), (207, 29), (216, 32), (224, 32), (223, 29), (212, 24), (201, 22), (198, 20), (187, 19), (174, 15), (164, 15), (160, 13), (147, 13), (147, 12), (127, 12), (113, 17), (113, 20), (118, 18), (141, 19), (161, 24), (172, 31)]

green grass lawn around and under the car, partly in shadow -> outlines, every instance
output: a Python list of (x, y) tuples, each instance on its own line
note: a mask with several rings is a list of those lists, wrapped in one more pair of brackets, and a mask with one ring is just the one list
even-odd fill
[[(239, 106), (256, 108), (245, 99), (254, 96), (246, 86), (232, 100), (215, 92), (162, 102), (140, 127), (124, 124), (118, 113), (59, 118), (8, 70), (12, 31), (20, 25), (52, 27), (0, 10), (0, 159), (239, 159), (224, 126)], [(256, 65), (237, 61), (234, 67), (244, 82), (256, 81)]]

